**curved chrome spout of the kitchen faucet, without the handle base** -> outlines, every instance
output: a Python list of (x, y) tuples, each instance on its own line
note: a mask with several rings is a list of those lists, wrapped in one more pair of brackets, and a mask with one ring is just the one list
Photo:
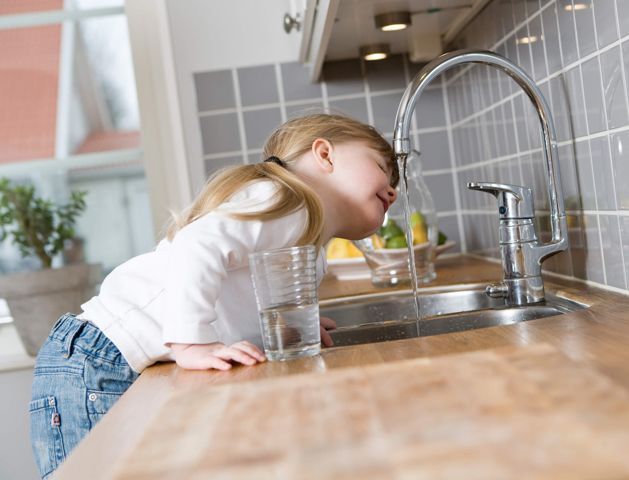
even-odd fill
[[(561, 179), (559, 176), (559, 156), (557, 154), (555, 125), (552, 121), (550, 108), (535, 81), (518, 65), (498, 55), (498, 53), (482, 50), (456, 50), (455, 52), (445, 53), (437, 57), (437, 59), (421, 69), (404, 92), (402, 101), (399, 104), (393, 138), (393, 148), (396, 155), (408, 155), (408, 153), (411, 152), (411, 143), (409, 140), (411, 114), (415, 109), (417, 99), (425, 90), (426, 86), (445, 72), (445, 70), (456, 67), (457, 65), (470, 63), (490, 65), (491, 67), (503, 71), (520, 85), (523, 91), (526, 92), (526, 96), (531, 100), (533, 108), (535, 108), (537, 112), (537, 117), (540, 121), (540, 131), (542, 133), (542, 146), (548, 181), (548, 196), (550, 198), (550, 218), (553, 225), (552, 243), (562, 242), (562, 237), (565, 237), (565, 232), (561, 231), (560, 222), (557, 220), (559, 220), (559, 217), (565, 216), (564, 194), (562, 192)], [(564, 249), (565, 247), (561, 250)]]

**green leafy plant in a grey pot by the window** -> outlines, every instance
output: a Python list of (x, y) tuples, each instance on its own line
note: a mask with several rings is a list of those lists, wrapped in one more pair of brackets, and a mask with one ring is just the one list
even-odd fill
[(72, 192), (69, 203), (57, 205), (36, 196), (33, 186), (0, 180), (0, 241), (11, 238), (23, 256), (34, 255), (42, 264), (39, 271), (0, 276), (0, 297), (30, 355), (37, 354), (60, 316), (81, 312), (102, 279), (100, 264), (51, 268), (53, 257), (71, 244), (86, 194)]

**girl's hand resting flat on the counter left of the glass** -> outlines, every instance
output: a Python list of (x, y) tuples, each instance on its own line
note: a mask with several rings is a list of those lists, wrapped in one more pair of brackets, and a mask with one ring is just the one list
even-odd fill
[(250, 342), (238, 342), (230, 347), (221, 342), (192, 345), (171, 343), (170, 347), (175, 354), (177, 365), (187, 370), (229, 370), (230, 361), (253, 365), (267, 359), (260, 349)]

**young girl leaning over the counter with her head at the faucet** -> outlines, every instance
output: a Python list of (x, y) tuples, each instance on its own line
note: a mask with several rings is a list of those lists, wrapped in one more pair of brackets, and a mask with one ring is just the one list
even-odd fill
[[(247, 254), (375, 233), (396, 199), (391, 145), (342, 115), (287, 121), (264, 161), (211, 177), (153, 252), (114, 269), (62, 316), (36, 360), (31, 442), (48, 476), (146, 367), (228, 370), (265, 360)], [(321, 318), (321, 340), (330, 346)]]

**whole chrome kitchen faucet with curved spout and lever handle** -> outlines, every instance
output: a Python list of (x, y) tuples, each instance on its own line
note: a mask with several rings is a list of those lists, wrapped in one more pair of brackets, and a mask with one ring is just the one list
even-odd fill
[(542, 262), (568, 248), (567, 222), (564, 195), (559, 176), (557, 139), (550, 108), (535, 81), (518, 65), (493, 52), (457, 50), (445, 53), (426, 65), (408, 86), (399, 104), (395, 124), (393, 148), (396, 156), (406, 157), (411, 152), (409, 126), (417, 99), (445, 70), (462, 64), (490, 65), (511, 77), (525, 91), (537, 112), (542, 132), (542, 145), (546, 160), (546, 179), (550, 197), (550, 223), (552, 239), (540, 243), (533, 225), (535, 208), (533, 194), (526, 187), (494, 183), (470, 182), (469, 189), (486, 191), (498, 199), (500, 218), (500, 250), (503, 264), (503, 281), (487, 287), (487, 295), (504, 298), (508, 306), (521, 306), (544, 301)]

